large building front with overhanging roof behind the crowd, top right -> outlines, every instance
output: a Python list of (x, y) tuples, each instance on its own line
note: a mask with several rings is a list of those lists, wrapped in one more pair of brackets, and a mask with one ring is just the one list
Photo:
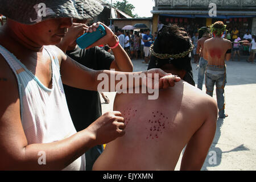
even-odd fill
[(256, 0), (155, 0), (151, 11), (152, 31), (158, 24), (175, 23), (189, 34), (198, 28), (222, 20), (227, 27), (237, 27), (241, 35), (246, 31), (256, 34)]

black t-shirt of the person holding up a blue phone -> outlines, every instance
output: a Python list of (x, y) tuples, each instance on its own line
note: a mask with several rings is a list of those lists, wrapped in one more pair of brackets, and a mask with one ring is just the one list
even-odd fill
[[(94, 70), (110, 69), (114, 56), (100, 47), (88, 50), (77, 48), (66, 52), (78, 63)], [(63, 85), (69, 113), (77, 131), (84, 130), (101, 116), (100, 94), (96, 91), (82, 90)]]

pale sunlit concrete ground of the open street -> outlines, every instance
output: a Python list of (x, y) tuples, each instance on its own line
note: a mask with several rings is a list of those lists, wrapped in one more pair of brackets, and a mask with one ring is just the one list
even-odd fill
[[(133, 64), (134, 72), (147, 69), (142, 60), (133, 60)], [(229, 61), (226, 65), (225, 99), (229, 117), (218, 118), (216, 135), (202, 170), (256, 170), (256, 64), (242, 60)], [(196, 64), (192, 67), (197, 83)], [(113, 110), (115, 93), (105, 95), (110, 104), (102, 104), (102, 113)], [(215, 93), (213, 98), (216, 100)], [(179, 167), (180, 160), (176, 170)]]

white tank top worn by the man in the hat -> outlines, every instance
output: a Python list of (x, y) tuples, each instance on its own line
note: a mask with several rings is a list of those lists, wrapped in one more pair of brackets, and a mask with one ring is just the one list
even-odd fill
[[(0, 45), (0, 53), (18, 81), (20, 117), (28, 144), (51, 143), (76, 133), (60, 77), (59, 60), (53, 51), (50, 52), (50, 46), (44, 46), (44, 49), (51, 57), (52, 89), (44, 86), (25, 65)], [(85, 155), (69, 164), (64, 170), (85, 170)]]

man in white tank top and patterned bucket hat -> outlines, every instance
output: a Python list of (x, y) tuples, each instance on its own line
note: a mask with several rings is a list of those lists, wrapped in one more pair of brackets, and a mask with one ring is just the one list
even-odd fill
[[(97, 90), (100, 73), (110, 77), (119, 72), (93, 71), (48, 45), (61, 41), (72, 18), (90, 18), (102, 7), (92, 0), (0, 3), (7, 17), (0, 29), (0, 169), (85, 169), (84, 152), (124, 135), (125, 124), (122, 114), (112, 111), (76, 133), (62, 83)], [(160, 88), (180, 81), (160, 69), (144, 73), (158, 73)]]

